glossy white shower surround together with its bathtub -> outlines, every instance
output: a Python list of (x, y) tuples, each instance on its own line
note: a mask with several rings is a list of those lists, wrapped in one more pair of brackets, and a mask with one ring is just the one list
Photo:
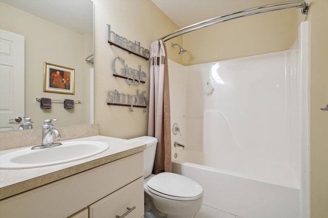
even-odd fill
[(309, 217), (308, 28), (301, 23), (288, 51), (169, 64), (179, 69), (170, 79), (187, 81), (177, 96), (179, 105), (187, 96), (185, 110), (171, 110), (186, 128), (172, 137), (186, 145), (172, 149), (173, 172), (203, 187), (204, 204), (241, 217)]

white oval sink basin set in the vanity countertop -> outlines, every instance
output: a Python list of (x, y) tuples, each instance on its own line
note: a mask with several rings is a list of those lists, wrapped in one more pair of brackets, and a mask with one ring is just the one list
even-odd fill
[(0, 157), (1, 169), (24, 169), (67, 163), (106, 151), (109, 145), (100, 141), (70, 141), (53, 148), (19, 149)]

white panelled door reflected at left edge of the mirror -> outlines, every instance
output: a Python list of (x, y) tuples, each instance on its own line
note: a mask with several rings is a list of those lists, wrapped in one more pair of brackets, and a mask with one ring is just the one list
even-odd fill
[(0, 29), (0, 131), (17, 130), (24, 116), (24, 36)]

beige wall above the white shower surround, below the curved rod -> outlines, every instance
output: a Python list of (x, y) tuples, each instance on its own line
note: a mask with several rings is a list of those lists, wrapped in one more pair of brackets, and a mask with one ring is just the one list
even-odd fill
[(183, 35), (183, 65), (288, 50), (297, 37), (296, 13), (279, 11), (230, 20)]

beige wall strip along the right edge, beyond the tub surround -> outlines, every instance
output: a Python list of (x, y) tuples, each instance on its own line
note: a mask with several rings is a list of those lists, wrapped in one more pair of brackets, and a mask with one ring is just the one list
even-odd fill
[(312, 1), (310, 73), (311, 217), (328, 216), (328, 1)]

